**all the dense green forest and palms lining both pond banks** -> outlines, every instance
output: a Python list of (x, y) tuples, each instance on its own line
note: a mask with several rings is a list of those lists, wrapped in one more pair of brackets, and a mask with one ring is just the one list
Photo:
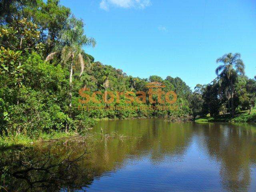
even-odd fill
[[(84, 34), (83, 21), (59, 0), (0, 1), (0, 134), (36, 138), (54, 131), (82, 132), (101, 118), (234, 116), (255, 104), (256, 80), (245, 76), (240, 54), (219, 58), (217, 78), (192, 92), (178, 77), (142, 79), (94, 61), (83, 48), (95, 44)], [(148, 82), (176, 92), (177, 101), (160, 104), (154, 94), (153, 104), (148, 97), (136, 102), (136, 92), (147, 92)], [(97, 92), (94, 97), (102, 102), (81, 108), (81, 88), (91, 96)], [(123, 94), (107, 103), (106, 91)]]

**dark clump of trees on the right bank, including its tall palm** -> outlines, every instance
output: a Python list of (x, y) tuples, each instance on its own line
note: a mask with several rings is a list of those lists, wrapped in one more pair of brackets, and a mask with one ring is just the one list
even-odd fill
[(250, 79), (245, 75), (239, 53), (225, 54), (216, 63), (219, 64), (215, 70), (217, 77), (209, 84), (195, 87), (191, 100), (194, 118), (222, 114), (234, 118), (242, 110), (249, 110), (250, 115), (256, 102), (256, 76)]

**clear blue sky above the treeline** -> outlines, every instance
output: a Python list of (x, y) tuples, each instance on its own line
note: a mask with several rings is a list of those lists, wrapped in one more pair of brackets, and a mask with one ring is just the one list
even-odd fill
[(255, 0), (61, 0), (97, 41), (96, 61), (128, 75), (180, 77), (191, 88), (215, 77), (216, 59), (240, 52), (256, 75)]

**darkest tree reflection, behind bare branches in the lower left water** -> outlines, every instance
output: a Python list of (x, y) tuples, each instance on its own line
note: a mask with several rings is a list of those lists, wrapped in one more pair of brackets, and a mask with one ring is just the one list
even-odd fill
[(92, 182), (81, 168), (86, 151), (65, 156), (35, 148), (0, 152), (1, 184), (7, 191), (83, 190)]

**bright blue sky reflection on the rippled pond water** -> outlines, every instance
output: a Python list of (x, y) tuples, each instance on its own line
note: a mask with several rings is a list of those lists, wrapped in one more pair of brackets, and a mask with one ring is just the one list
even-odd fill
[[(228, 136), (226, 127), (224, 137)], [(164, 154), (161, 161), (152, 160), (152, 154), (127, 155), (115, 172), (104, 172), (94, 180), (92, 191), (223, 191), (220, 164), (198, 146), (201, 138), (194, 136), (184, 155)], [(118, 168), (119, 166), (119, 168)], [(253, 169), (252, 178), (256, 178)], [(249, 191), (254, 191), (256, 180)]]

